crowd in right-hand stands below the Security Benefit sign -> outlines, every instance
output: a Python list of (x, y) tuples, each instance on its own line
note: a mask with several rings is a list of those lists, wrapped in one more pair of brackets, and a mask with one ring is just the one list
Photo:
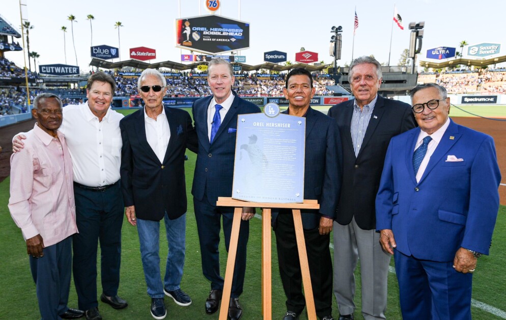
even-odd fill
[(453, 72), (422, 73), (418, 76), (418, 83), (436, 83), (453, 94), (505, 94), (506, 71), (475, 70)]

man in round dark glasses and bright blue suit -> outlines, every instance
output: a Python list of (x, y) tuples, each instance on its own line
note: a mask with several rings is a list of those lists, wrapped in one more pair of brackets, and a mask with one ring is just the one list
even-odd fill
[(411, 101), (419, 128), (390, 141), (376, 229), (394, 255), (404, 319), (471, 319), (472, 273), (499, 208), (494, 141), (449, 119), (439, 85), (416, 86)]

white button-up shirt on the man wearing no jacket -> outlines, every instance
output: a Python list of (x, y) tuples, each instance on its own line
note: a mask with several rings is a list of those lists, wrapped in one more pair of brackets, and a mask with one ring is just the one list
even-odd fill
[(88, 103), (63, 108), (60, 131), (72, 156), (74, 181), (87, 186), (113, 184), (120, 179), (120, 120), (123, 115), (110, 107), (102, 121)]

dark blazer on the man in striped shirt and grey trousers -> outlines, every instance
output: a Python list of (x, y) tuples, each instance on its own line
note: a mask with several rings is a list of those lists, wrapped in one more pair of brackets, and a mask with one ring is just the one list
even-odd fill
[(328, 115), (335, 119), (343, 139), (343, 185), (335, 221), (347, 225), (353, 217), (363, 230), (376, 228), (374, 200), (386, 149), (393, 136), (414, 128), (411, 106), (378, 95), (358, 156), (351, 140), (354, 100), (336, 104)]

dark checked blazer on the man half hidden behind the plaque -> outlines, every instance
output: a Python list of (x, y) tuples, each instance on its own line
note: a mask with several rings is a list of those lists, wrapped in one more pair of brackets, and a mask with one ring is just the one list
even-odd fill
[[(288, 110), (283, 113), (288, 114)], [(318, 228), (320, 218), (335, 217), (343, 173), (341, 136), (334, 120), (310, 108), (305, 115), (304, 199), (318, 200), (319, 210), (302, 209), (304, 229)], [(277, 212), (273, 211), (275, 227)]]

